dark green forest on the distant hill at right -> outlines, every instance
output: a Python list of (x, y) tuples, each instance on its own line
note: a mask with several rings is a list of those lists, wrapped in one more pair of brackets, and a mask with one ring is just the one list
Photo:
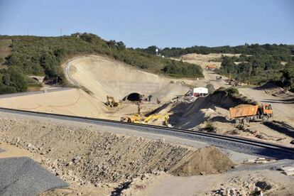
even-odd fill
[[(154, 54), (156, 48), (155, 45), (152, 45), (137, 50)], [(163, 48), (159, 50), (159, 53), (165, 57), (176, 58), (190, 53), (203, 55), (209, 53), (241, 54), (239, 58), (227, 56), (220, 58), (219, 61), (222, 62), (222, 65), (217, 73), (252, 85), (262, 85), (265, 82), (273, 81), (282, 87), (293, 89), (294, 45), (192, 46), (189, 48)]]

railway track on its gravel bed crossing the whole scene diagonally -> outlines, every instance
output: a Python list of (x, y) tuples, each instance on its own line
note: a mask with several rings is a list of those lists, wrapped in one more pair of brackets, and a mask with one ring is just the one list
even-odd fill
[(148, 124), (129, 124), (121, 121), (112, 121), (107, 119), (94, 119), (62, 114), (48, 114), (43, 112), (23, 111), (18, 109), (0, 108), (0, 112), (21, 114), (26, 116), (37, 116), (46, 119), (77, 121), (87, 124), (117, 127), (118, 129), (131, 129), (134, 131), (147, 132), (151, 134), (175, 136), (179, 138), (186, 138), (193, 141), (207, 143), (209, 145), (214, 145), (219, 148), (226, 148), (239, 153), (247, 153), (255, 156), (263, 156), (276, 159), (294, 159), (294, 148), (273, 143), (266, 143), (263, 141), (255, 141), (249, 138), (240, 138), (237, 136), (224, 136), (219, 134), (190, 131), (185, 129), (175, 129), (164, 126), (153, 126)]

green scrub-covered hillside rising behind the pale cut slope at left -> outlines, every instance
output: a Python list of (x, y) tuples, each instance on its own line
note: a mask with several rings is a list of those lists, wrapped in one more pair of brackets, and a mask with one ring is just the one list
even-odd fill
[[(198, 65), (161, 58), (126, 48), (123, 42), (103, 40), (94, 34), (75, 33), (71, 36), (0, 36), (12, 40), (11, 54), (6, 57), (8, 70), (0, 72), (0, 93), (26, 91), (28, 80), (24, 75), (45, 75), (48, 82), (66, 85), (60, 65), (75, 55), (98, 54), (125, 62), (147, 72), (174, 77), (203, 77)], [(18, 75), (18, 77), (14, 77)], [(22, 77), (21, 77), (22, 76)], [(18, 80), (21, 78), (21, 80)], [(23, 87), (18, 87), (20, 84)]]

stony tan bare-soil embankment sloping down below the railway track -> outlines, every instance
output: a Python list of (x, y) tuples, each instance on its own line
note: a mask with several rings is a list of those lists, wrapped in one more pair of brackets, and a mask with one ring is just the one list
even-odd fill
[[(199, 167), (197, 173), (186, 175), (212, 173), (213, 170), (220, 173), (229, 169), (227, 165), (219, 165), (227, 164), (228, 158), (212, 147), (197, 152), (196, 148), (164, 141), (65, 126), (46, 120), (1, 117), (0, 139), (1, 148), (6, 150), (3, 155), (30, 156), (70, 183), (69, 190), (59, 191), (72, 194), (114, 191), (133, 178), (146, 173), (159, 175), (175, 165), (182, 167), (182, 163), (192, 168)], [(224, 161), (198, 157), (200, 154), (206, 157), (209, 152)], [(209, 161), (210, 167), (200, 166), (206, 161)], [(182, 173), (185, 172), (183, 170)]]

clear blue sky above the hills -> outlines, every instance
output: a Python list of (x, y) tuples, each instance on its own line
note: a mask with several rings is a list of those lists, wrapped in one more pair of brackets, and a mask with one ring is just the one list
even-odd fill
[(1, 35), (94, 33), (128, 47), (294, 44), (292, 0), (0, 0)]

